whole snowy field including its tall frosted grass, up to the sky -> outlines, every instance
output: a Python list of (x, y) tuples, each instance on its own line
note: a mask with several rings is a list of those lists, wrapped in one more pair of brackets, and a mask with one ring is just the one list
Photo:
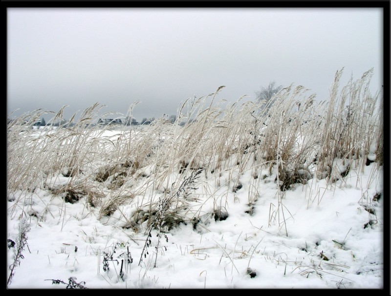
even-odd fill
[(341, 75), (327, 101), (289, 86), (263, 109), (220, 87), (174, 124), (16, 118), (7, 266), (31, 229), (8, 288), (383, 288), (382, 102), (371, 71)]

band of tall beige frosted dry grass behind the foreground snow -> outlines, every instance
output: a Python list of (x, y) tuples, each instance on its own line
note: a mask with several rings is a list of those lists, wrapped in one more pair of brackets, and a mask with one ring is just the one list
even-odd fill
[[(217, 204), (219, 188), (226, 188), (221, 201), (228, 193), (249, 188), (251, 208), (259, 182), (277, 169), (275, 213), (283, 217), (282, 192), (294, 184), (311, 178), (327, 178), (331, 184), (346, 178), (353, 161), (359, 161), (361, 169), (365, 166), (373, 143), (376, 161), (383, 163), (383, 109), (379, 94), (369, 93), (372, 70), (339, 91), (342, 73), (337, 71), (328, 101), (316, 101), (315, 94), (305, 95), (303, 86), (291, 85), (265, 108), (263, 101), (242, 103), (242, 98), (223, 108), (226, 102), (217, 100), (220, 87), (208, 96), (187, 99), (174, 123), (162, 117), (150, 125), (124, 125), (113, 136), (105, 134), (112, 127), (92, 125), (112, 114), (98, 115), (99, 104), (87, 108), (73, 126), (36, 130), (33, 122), (54, 112), (24, 114), (7, 124), (7, 194), (48, 190), (48, 179), (67, 178), (54, 195), (70, 202), (87, 197), (89, 206), (99, 207), (100, 217), (132, 204), (148, 214), (140, 222), (147, 230), (167, 197), (170, 205), (159, 219), (172, 227), (212, 213), (208, 207)], [(55, 120), (61, 122), (63, 112), (56, 113)], [(199, 189), (187, 188), (175, 196), (184, 180), (199, 170)], [(254, 179), (242, 184), (240, 176), (247, 171)], [(212, 179), (216, 188), (209, 188)]]

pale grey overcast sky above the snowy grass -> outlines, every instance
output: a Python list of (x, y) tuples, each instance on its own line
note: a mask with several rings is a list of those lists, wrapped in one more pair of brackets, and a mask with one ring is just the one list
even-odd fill
[[(95, 102), (133, 117), (176, 114), (211, 94), (236, 101), (270, 81), (327, 99), (374, 68), (383, 84), (381, 8), (8, 8), (7, 113), (64, 117)], [(309, 95), (308, 94), (308, 95)], [(48, 116), (49, 117), (49, 116)], [(46, 118), (47, 120), (47, 118)]]

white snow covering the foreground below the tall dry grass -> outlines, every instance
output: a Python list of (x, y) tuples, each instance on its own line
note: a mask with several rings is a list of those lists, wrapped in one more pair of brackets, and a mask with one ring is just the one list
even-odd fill
[[(151, 168), (145, 171), (148, 175)], [(18, 237), (22, 212), (29, 215), (31, 231), (8, 288), (64, 289), (70, 277), (87, 288), (384, 288), (384, 198), (373, 201), (382, 191), (382, 167), (371, 163), (363, 173), (352, 169), (331, 185), (313, 178), (280, 197), (274, 176), (262, 179), (259, 196), (252, 198), (253, 211), (253, 173), (238, 176), (242, 188), (227, 194), (221, 174), (215, 198), (204, 201), (205, 215), (197, 224), (181, 223), (167, 238), (163, 235), (157, 254), (158, 232), (152, 230), (145, 257), (146, 234), (123, 228), (121, 213), (130, 218), (135, 211), (130, 205), (99, 218), (98, 209), (86, 206), (86, 197), (71, 204), (42, 189), (29, 195), (16, 192), (7, 204), (7, 238)], [(57, 177), (48, 183), (68, 179)], [(203, 178), (201, 184), (215, 188), (216, 180)], [(229, 217), (219, 221), (208, 216), (213, 203), (224, 206)], [(132, 263), (127, 263), (128, 249)], [(108, 261), (107, 271), (105, 253), (114, 260)], [(7, 266), (12, 255), (11, 248)]]

